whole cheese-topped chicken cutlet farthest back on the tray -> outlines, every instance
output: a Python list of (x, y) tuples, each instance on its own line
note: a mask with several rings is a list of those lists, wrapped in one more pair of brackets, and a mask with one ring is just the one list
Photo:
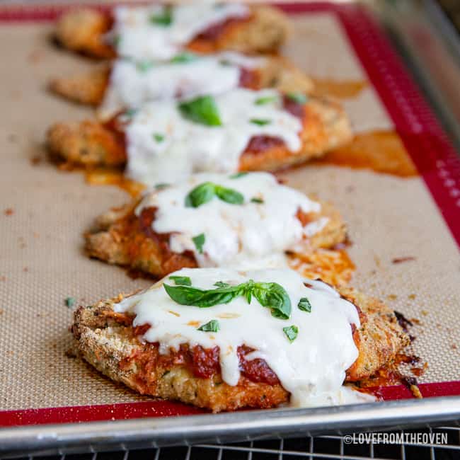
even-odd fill
[(55, 38), (68, 50), (101, 59), (171, 59), (184, 49), (276, 52), (289, 29), (286, 16), (271, 6), (202, 2), (72, 9), (59, 18)]

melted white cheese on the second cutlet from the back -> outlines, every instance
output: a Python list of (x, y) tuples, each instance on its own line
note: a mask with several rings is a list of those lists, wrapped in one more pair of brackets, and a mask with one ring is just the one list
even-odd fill
[(109, 118), (150, 100), (193, 98), (238, 87), (241, 67), (261, 67), (263, 57), (235, 52), (201, 56), (190, 62), (151, 62), (147, 69), (131, 59), (117, 59), (98, 115)]

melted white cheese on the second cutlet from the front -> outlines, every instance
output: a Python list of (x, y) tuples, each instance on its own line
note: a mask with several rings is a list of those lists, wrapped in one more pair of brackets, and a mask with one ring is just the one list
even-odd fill
[[(206, 182), (236, 190), (243, 195), (243, 204), (233, 205), (214, 197), (199, 207), (186, 207), (185, 197)], [(287, 267), (284, 251), (301, 246), (304, 236), (312, 236), (328, 222), (323, 217), (318, 219), (319, 224), (314, 221), (302, 227), (296, 217), (299, 209), (318, 213), (321, 205), (298, 190), (280, 185), (270, 173), (247, 173), (236, 178), (196, 174), (147, 193), (137, 214), (145, 207), (156, 207), (152, 229), (159, 234), (171, 233), (171, 250), (192, 251), (200, 267)], [(205, 235), (205, 243), (198, 251), (192, 238), (200, 234)]]

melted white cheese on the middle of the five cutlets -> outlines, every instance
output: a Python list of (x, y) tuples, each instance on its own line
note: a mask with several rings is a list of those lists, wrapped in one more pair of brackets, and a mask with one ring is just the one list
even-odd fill
[[(173, 182), (192, 173), (238, 171), (241, 154), (258, 135), (279, 137), (289, 151), (301, 148), (301, 122), (282, 108), (282, 101), (256, 104), (258, 98), (276, 97), (271, 89), (236, 88), (214, 98), (222, 126), (185, 119), (177, 103), (147, 103), (126, 127), (127, 176), (146, 185)], [(270, 120), (258, 125), (251, 120)], [(156, 142), (154, 134), (163, 136)]]

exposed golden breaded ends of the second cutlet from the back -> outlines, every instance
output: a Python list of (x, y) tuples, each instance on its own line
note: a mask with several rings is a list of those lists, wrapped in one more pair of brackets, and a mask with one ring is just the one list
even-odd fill
[[(260, 72), (260, 88), (276, 88), (280, 91), (311, 93), (313, 81), (288, 59), (279, 56), (265, 58)], [(102, 103), (110, 84), (110, 65), (70, 77), (50, 81), (50, 91), (76, 103), (97, 106)]]

